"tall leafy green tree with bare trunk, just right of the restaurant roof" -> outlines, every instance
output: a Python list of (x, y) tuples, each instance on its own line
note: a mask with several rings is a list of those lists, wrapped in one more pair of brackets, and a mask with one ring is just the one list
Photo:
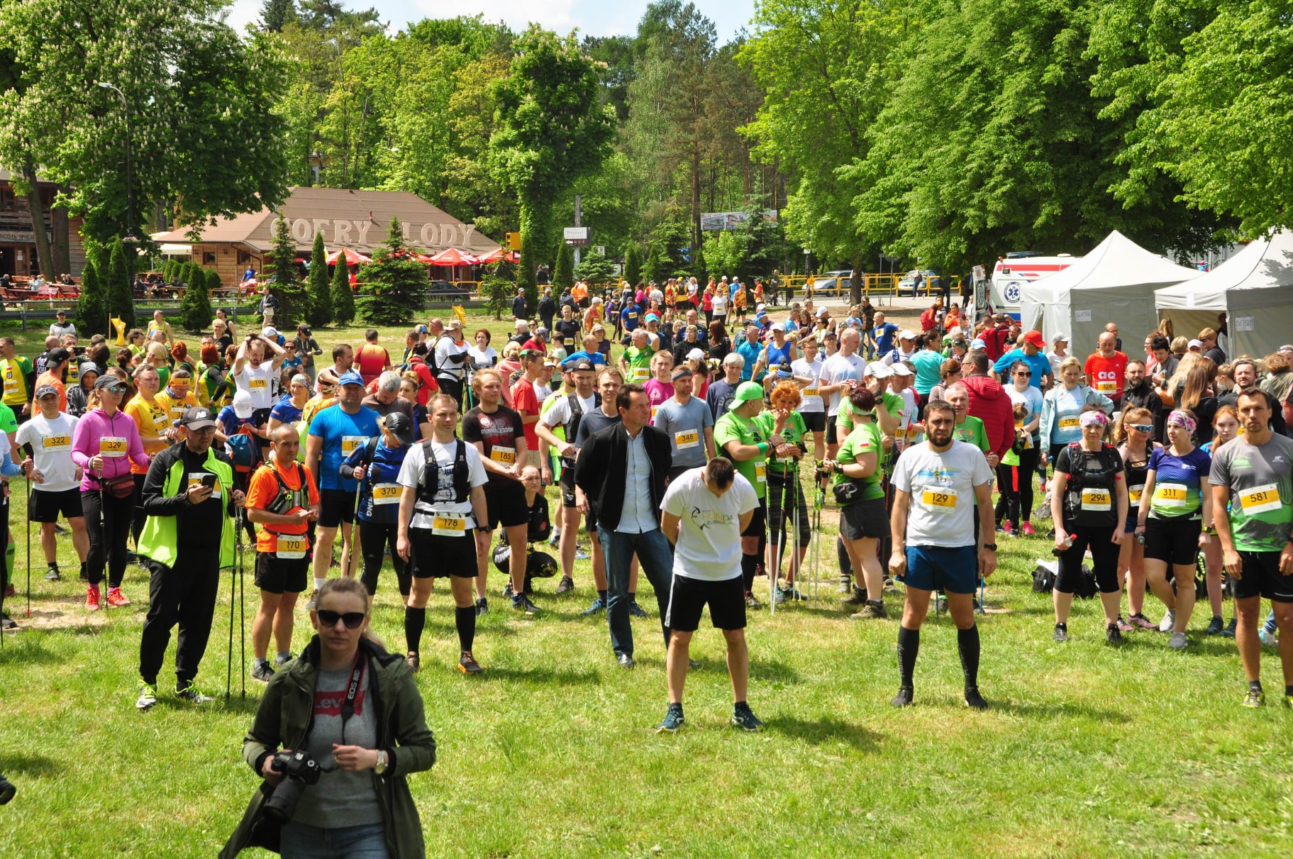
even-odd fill
[(599, 97), (597, 72), (574, 36), (531, 25), (513, 44), (497, 101), (490, 160), (520, 203), (526, 301), (538, 303), (534, 274), (551, 230), (552, 201), (601, 164), (614, 136), (614, 109)]

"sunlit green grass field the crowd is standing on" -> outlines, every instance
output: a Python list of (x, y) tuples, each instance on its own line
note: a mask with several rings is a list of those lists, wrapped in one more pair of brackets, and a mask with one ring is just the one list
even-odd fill
[[(392, 351), (397, 334), (383, 332)], [(359, 342), (354, 330), (318, 339), (343, 336)], [(13, 485), (22, 593), (25, 488)], [(1049, 542), (1002, 539), (980, 617), (980, 686), (992, 709), (962, 705), (944, 614), (922, 635), (917, 704), (895, 712), (897, 621), (850, 621), (839, 611), (833, 534), (828, 524), (822, 602), (751, 614), (750, 702), (767, 723), (754, 735), (727, 723), (721, 636), (703, 625), (687, 726), (652, 732), (666, 704), (654, 600), (643, 594), (652, 617), (634, 622), (639, 665), (623, 671), (604, 618), (579, 617), (592, 598), (586, 563), (573, 595), (552, 596), (555, 580), (539, 583), (543, 614), (534, 618), (513, 614), (498, 595), (502, 576), (491, 576), (493, 611), (476, 644), (486, 673), (475, 679), (454, 668), (451, 602), (437, 589), (418, 683), (440, 762), (410, 780), (428, 855), (1293, 853), (1293, 712), (1239, 706), (1239, 656), (1232, 640), (1202, 635), (1206, 617), (1196, 613), (1184, 652), (1151, 633), (1111, 649), (1098, 603), (1078, 600), (1072, 640), (1058, 646), (1049, 596), (1029, 590)], [(0, 652), (0, 770), (18, 785), (0, 809), (0, 855), (213, 855), (256, 784), (239, 750), (261, 686), (248, 679), (240, 699), (237, 618), (230, 704), (176, 701), (168, 662), (160, 704), (137, 713), (145, 574), (127, 573), (134, 605), (89, 617), (70, 542), (59, 543), (65, 581), (54, 585), (43, 581), (32, 542), (32, 611), (43, 627), (5, 636)], [(226, 573), (199, 677), (221, 693), (230, 581)], [(250, 636), (250, 572), (244, 582)], [(765, 580), (755, 587), (767, 595)], [(899, 599), (888, 598), (895, 616)], [(6, 607), (25, 620), (22, 596)], [(1156, 617), (1161, 607), (1151, 598), (1147, 611)], [(308, 624), (299, 612), (294, 649)], [(389, 571), (374, 629), (402, 647)], [(1277, 701), (1277, 660), (1268, 649), (1263, 657)]]

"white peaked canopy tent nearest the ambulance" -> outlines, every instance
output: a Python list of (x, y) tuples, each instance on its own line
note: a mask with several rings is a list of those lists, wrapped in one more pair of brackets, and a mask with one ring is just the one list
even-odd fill
[(1125, 348), (1129, 343), (1139, 347), (1159, 325), (1155, 290), (1200, 274), (1113, 230), (1063, 272), (1025, 285), (1019, 316), (1024, 330), (1038, 329), (1047, 343), (1056, 334), (1068, 334), (1072, 354), (1094, 352), (1107, 322), (1117, 322)]

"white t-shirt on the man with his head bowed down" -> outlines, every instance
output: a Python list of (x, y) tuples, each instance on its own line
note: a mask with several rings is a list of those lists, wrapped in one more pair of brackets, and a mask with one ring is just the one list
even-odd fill
[(720, 582), (741, 574), (741, 514), (759, 506), (754, 486), (740, 473), (732, 486), (716, 497), (705, 485), (705, 468), (679, 475), (659, 508), (678, 516), (674, 574)]

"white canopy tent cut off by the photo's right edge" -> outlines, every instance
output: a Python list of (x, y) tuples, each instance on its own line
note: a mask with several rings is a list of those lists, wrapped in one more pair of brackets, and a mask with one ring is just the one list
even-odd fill
[(1202, 277), (1159, 290), (1153, 303), (1179, 336), (1215, 329), (1227, 313), (1228, 356), (1275, 352), (1293, 342), (1293, 230), (1249, 242)]

